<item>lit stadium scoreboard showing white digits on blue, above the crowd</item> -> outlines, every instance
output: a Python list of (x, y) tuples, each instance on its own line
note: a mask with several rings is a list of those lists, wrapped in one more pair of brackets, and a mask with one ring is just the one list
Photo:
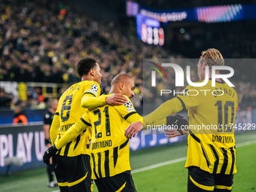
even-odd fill
[(136, 25), (138, 38), (147, 44), (163, 46), (164, 31), (160, 21), (142, 14), (136, 14)]

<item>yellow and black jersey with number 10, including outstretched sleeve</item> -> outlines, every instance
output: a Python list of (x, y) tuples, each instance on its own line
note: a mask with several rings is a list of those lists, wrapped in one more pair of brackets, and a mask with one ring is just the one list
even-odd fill
[(233, 130), (238, 105), (236, 91), (222, 82), (212, 87), (209, 80), (203, 87), (187, 86), (184, 93), (148, 114), (144, 124), (187, 109), (189, 133), (185, 167), (198, 166), (216, 174), (236, 173)]

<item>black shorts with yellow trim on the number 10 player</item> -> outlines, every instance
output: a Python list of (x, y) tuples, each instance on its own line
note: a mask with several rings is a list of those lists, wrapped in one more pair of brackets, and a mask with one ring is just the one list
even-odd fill
[(188, 167), (187, 192), (229, 192), (233, 175), (211, 174), (197, 166)]

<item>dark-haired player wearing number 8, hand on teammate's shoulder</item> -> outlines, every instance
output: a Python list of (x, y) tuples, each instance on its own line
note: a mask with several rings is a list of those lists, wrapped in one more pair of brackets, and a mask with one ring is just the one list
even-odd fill
[[(95, 108), (106, 103), (116, 105), (126, 102), (123, 96), (99, 96), (102, 74), (99, 64), (94, 59), (81, 59), (77, 71), (82, 81), (73, 84), (59, 98), (53, 123), (50, 126), (50, 140), (53, 144), (79, 120), (86, 108)], [(63, 145), (53, 157), (54, 171), (61, 192), (91, 190), (88, 131), (84, 131), (67, 145)], [(44, 163), (49, 163), (49, 160)]]

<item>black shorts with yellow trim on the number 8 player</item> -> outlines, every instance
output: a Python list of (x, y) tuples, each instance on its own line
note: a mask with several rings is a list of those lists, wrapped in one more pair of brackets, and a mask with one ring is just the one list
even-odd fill
[(61, 192), (92, 191), (90, 155), (53, 156), (53, 168)]

